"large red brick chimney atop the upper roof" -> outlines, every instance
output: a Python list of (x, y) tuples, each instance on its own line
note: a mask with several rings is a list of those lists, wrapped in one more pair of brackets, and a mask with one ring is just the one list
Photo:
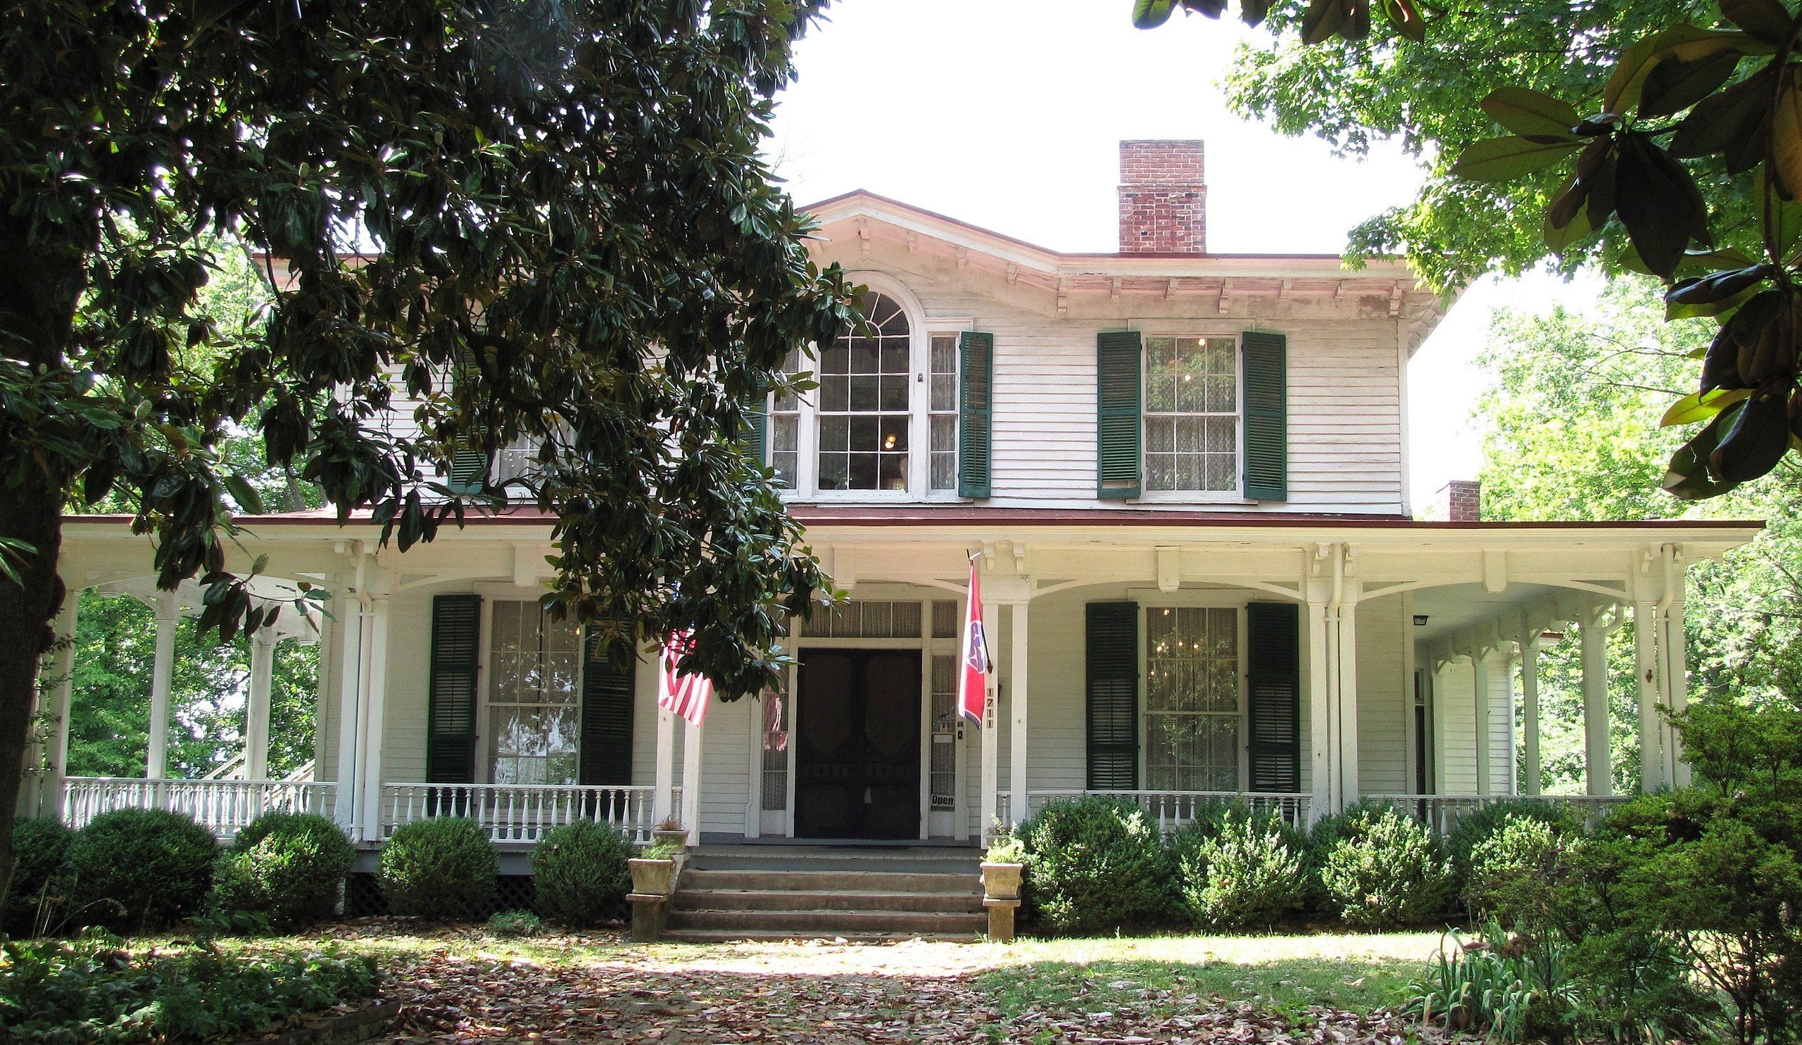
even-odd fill
[(1121, 142), (1121, 254), (1206, 254), (1202, 142)]

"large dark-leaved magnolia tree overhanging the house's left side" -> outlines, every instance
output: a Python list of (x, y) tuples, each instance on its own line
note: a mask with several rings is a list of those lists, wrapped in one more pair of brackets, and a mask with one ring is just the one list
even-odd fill
[[(499, 499), (434, 461), (530, 438), (548, 607), (616, 647), (692, 627), (726, 699), (769, 679), (824, 578), (737, 436), (856, 315), (757, 159), (822, 5), (0, 7), (0, 876), (61, 513), (124, 497), (162, 587), (261, 627), (225, 557), (247, 427), (402, 550)], [(252, 323), (204, 306), (222, 249), (292, 274)]]

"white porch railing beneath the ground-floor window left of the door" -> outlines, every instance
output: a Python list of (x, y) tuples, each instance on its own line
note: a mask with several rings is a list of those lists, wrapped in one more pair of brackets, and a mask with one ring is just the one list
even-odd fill
[[(654, 791), (582, 784), (384, 784), (382, 838), (414, 820), (469, 816), (492, 841), (539, 841), (553, 827), (578, 820), (611, 823), (633, 841), (651, 841)], [(672, 791), (670, 807), (681, 809), (681, 787)]]

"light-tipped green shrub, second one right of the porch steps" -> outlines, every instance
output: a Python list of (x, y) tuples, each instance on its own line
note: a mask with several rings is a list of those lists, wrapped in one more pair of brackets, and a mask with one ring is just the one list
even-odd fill
[(1179, 838), (1177, 888), (1189, 921), (1216, 931), (1270, 928), (1308, 899), (1303, 840), (1279, 818), (1240, 809)]

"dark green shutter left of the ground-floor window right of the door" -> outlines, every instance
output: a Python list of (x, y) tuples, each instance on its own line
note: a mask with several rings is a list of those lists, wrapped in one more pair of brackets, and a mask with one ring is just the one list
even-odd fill
[(1139, 604), (1088, 604), (1090, 791), (1139, 787)]

